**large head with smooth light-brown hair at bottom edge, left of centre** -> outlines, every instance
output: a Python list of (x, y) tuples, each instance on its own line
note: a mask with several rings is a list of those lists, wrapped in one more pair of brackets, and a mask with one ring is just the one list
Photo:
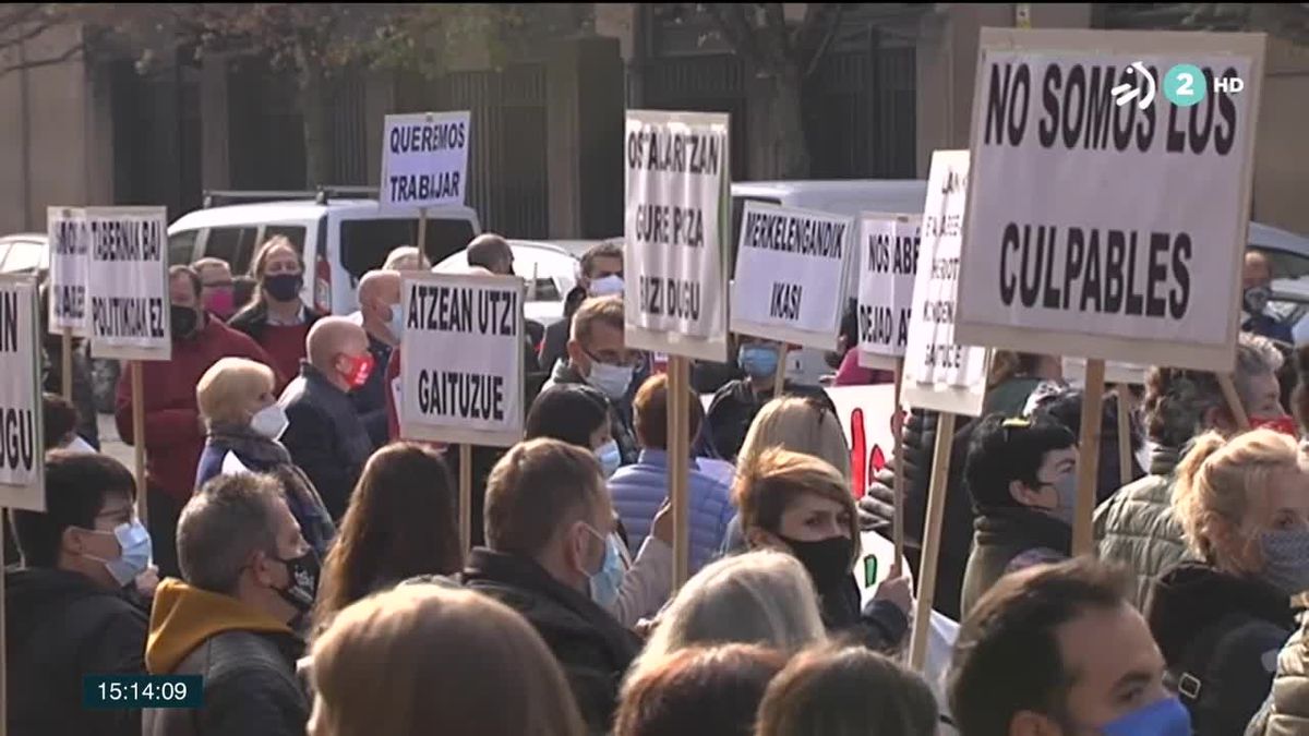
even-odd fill
[(313, 647), (310, 736), (581, 736), (554, 655), (471, 591), (402, 585), (344, 609)]

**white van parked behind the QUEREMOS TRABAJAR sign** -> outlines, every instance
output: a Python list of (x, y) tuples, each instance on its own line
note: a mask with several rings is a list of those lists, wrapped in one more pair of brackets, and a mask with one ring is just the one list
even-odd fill
[[(275, 199), (206, 207), (169, 225), (169, 265), (221, 258), (233, 275), (246, 274), (255, 250), (272, 236), (285, 236), (305, 261), (301, 299), (331, 314), (359, 308), (359, 279), (381, 267), (386, 254), (401, 245), (418, 245), (418, 208), (382, 212), (376, 199), (353, 195), (376, 193), (364, 187), (322, 189), (317, 193), (209, 193), (220, 199)], [(338, 199), (334, 195), (344, 198)], [(436, 263), (462, 250), (482, 232), (471, 207), (431, 208), (427, 213), (428, 258)]]

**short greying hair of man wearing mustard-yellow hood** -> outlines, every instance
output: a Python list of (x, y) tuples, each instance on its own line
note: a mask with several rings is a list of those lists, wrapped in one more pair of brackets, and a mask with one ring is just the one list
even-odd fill
[(219, 475), (200, 487), (177, 521), (182, 578), (212, 593), (233, 593), (250, 555), (275, 553), (274, 524), (281, 485), (271, 475)]

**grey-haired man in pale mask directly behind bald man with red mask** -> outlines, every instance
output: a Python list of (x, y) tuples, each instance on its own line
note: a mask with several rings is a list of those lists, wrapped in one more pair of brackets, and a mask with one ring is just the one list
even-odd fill
[(386, 368), (391, 354), (404, 334), (404, 314), (401, 313), (399, 271), (369, 271), (359, 280), (359, 312), (351, 314), (355, 323), (368, 333), (368, 352), (374, 369), (368, 381), (351, 392), (351, 401), (368, 430), (373, 444), (382, 447), (390, 439), (386, 415)]

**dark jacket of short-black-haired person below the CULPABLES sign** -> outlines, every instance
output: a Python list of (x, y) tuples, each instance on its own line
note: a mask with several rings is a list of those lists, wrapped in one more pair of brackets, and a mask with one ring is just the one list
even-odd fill
[(978, 516), (974, 528), (959, 596), (965, 617), (1004, 575), (1066, 558), (1072, 550), (1072, 526), (1026, 507), (988, 509)]

